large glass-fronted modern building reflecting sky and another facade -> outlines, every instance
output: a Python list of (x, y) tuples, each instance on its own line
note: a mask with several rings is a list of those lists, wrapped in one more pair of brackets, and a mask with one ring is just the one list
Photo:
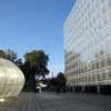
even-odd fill
[(111, 0), (77, 0), (63, 31), (68, 84), (110, 85)]

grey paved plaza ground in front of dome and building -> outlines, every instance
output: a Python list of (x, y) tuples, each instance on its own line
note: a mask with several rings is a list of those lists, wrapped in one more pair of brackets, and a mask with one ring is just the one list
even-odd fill
[(18, 98), (1, 102), (0, 111), (111, 111), (111, 95), (21, 93)]

